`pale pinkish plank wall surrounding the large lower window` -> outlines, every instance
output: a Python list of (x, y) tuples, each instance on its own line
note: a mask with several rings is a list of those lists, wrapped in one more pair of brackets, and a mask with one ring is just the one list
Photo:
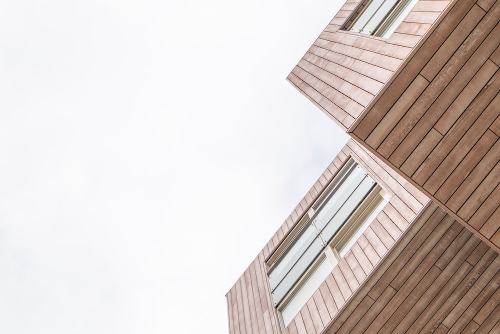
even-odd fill
[(361, 164), (392, 197), (285, 328), (284, 333), (321, 332), (427, 203), (428, 198), (413, 185), (375, 155), (354, 141), (349, 141), (227, 292), (229, 333), (282, 332), (271, 300), (265, 260), (286, 238), (349, 157)]

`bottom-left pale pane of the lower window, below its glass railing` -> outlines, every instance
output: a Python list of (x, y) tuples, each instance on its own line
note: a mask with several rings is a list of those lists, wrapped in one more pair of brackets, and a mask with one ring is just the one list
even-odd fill
[(305, 280), (303, 285), (298, 289), (290, 301), (280, 310), (283, 324), (287, 326), (291, 320), (297, 315), (300, 309), (305, 305), (307, 300), (317, 290), (319, 285), (326, 279), (328, 274), (333, 270), (333, 265), (328, 261), (326, 256), (320, 260), (318, 266)]

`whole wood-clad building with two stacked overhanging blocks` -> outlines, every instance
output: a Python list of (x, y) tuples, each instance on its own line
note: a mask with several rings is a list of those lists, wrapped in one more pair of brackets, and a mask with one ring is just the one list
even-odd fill
[(500, 333), (500, 1), (348, 0), (288, 76), (352, 139), (232, 333)]

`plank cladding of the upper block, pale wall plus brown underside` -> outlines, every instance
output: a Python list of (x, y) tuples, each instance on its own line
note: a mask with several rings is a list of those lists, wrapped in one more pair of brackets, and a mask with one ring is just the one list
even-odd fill
[(338, 30), (358, 8), (287, 79), (500, 251), (500, 2), (419, 1), (387, 40)]

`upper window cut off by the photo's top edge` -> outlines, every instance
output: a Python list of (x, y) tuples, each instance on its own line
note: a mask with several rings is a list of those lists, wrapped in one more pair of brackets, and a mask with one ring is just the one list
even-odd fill
[(344, 30), (388, 38), (417, 0), (368, 0)]

